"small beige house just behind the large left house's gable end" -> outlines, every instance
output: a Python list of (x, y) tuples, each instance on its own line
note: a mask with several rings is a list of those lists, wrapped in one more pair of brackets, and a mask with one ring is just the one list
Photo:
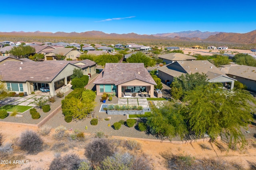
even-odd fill
[(68, 61), (75, 66), (82, 68), (83, 74), (91, 77), (93, 74), (96, 74), (96, 63), (94, 61), (85, 59), (82, 61)]

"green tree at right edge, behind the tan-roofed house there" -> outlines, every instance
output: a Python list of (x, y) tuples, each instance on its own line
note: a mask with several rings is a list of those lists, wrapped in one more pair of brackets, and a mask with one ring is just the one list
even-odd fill
[(248, 54), (238, 53), (236, 54), (233, 59), (236, 64), (240, 65), (247, 65), (247, 66), (256, 66), (256, 59)]

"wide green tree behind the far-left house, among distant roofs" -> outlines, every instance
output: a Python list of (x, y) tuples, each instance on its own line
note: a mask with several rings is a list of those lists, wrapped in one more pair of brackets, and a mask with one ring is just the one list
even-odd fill
[(12, 47), (7, 53), (19, 58), (28, 58), (31, 54), (36, 53), (36, 49), (29, 45), (19, 45), (18, 47)]

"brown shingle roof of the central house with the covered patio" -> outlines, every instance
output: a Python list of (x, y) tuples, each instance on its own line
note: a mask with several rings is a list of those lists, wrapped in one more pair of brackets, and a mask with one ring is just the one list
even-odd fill
[(106, 63), (104, 70), (93, 83), (118, 85), (136, 79), (156, 85), (143, 63)]

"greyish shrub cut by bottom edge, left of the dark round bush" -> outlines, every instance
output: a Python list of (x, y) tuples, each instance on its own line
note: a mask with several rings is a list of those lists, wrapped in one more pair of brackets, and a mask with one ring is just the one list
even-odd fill
[(57, 156), (52, 160), (49, 170), (76, 170), (81, 162), (82, 160), (76, 154), (66, 154), (63, 157)]

